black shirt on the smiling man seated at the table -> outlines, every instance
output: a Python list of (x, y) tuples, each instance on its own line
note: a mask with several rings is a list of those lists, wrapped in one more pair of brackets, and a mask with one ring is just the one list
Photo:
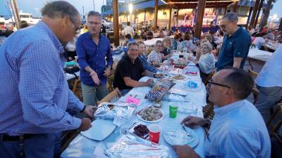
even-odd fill
[(130, 79), (139, 81), (143, 72), (145, 72), (145, 69), (139, 58), (136, 58), (133, 64), (128, 55), (123, 56), (118, 62), (114, 73), (114, 88), (118, 87), (120, 90), (133, 88), (131, 86), (126, 86), (123, 78), (130, 77)]

